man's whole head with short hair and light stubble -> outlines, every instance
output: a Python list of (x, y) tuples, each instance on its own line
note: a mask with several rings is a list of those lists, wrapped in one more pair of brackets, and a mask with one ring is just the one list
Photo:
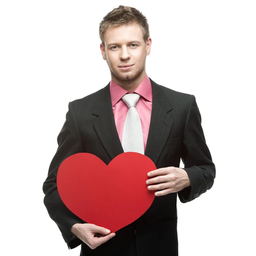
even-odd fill
[[(129, 84), (145, 77), (145, 60), (151, 49), (148, 22), (137, 9), (119, 6), (109, 12), (99, 25), (102, 57), (111, 78)], [(121, 65), (132, 65), (121, 68)]]

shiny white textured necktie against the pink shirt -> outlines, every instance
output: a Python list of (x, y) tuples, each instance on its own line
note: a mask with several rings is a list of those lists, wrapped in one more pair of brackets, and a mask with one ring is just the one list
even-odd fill
[(140, 116), (135, 108), (139, 99), (140, 95), (137, 93), (128, 93), (122, 97), (129, 108), (122, 132), (122, 148), (124, 152), (144, 154), (142, 126)]

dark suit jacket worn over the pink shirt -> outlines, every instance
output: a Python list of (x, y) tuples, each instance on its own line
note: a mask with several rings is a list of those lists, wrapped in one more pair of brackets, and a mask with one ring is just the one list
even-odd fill
[(116, 236), (94, 250), (71, 233), (76, 223), (86, 223), (64, 205), (58, 194), (58, 167), (72, 154), (87, 152), (108, 164), (123, 153), (114, 121), (109, 85), (68, 105), (66, 121), (58, 134), (58, 149), (44, 181), (44, 204), (58, 225), (69, 249), (81, 244), (80, 256), (178, 255), (177, 195), (186, 203), (210, 189), (215, 165), (207, 147), (195, 96), (163, 87), (150, 79), (153, 102), (145, 155), (158, 168), (184, 163), (191, 186), (155, 197), (139, 219), (118, 230)]

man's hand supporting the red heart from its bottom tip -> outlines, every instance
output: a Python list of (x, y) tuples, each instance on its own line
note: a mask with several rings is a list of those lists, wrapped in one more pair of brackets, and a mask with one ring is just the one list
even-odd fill
[(95, 249), (116, 235), (115, 233), (110, 233), (110, 231), (104, 227), (89, 223), (76, 223), (72, 226), (71, 232), (91, 249)]

